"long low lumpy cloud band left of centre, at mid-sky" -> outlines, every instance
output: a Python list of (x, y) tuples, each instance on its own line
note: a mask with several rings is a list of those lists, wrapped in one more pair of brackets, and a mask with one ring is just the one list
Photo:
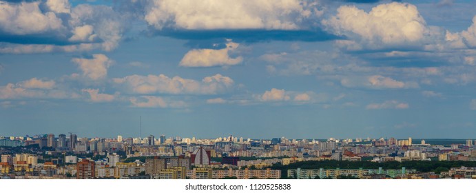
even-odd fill
[(138, 94), (168, 93), (168, 94), (217, 94), (231, 89), (234, 81), (221, 74), (205, 77), (202, 81), (169, 78), (164, 74), (140, 76), (131, 75), (113, 79), (114, 83), (125, 92)]

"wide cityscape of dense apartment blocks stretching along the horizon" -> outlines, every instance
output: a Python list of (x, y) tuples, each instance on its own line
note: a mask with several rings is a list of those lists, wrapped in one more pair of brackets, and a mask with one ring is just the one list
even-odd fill
[(0, 174), (1, 179), (476, 179), (475, 144), (411, 137), (1, 136)]

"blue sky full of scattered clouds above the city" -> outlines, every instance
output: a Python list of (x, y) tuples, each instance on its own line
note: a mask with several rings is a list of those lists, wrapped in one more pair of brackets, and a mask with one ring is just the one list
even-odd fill
[(474, 139), (475, 7), (0, 1), (0, 136)]

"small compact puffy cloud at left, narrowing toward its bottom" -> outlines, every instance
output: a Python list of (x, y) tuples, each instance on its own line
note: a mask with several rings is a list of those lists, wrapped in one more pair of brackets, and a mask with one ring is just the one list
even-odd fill
[(107, 76), (107, 68), (112, 65), (112, 61), (104, 54), (93, 54), (92, 59), (74, 58), (72, 61), (79, 65), (83, 71), (83, 77), (97, 81)]

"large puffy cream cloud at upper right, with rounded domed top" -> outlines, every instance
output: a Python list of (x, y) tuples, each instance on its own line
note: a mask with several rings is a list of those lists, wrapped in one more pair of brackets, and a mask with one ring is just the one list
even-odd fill
[(323, 24), (336, 34), (358, 37), (373, 47), (415, 43), (428, 34), (417, 7), (409, 3), (380, 4), (368, 13), (355, 6), (341, 6), (335, 17)]

